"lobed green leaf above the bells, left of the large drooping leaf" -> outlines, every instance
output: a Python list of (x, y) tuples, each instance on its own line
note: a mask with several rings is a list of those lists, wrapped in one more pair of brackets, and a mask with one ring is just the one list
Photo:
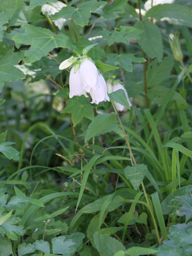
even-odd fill
[(131, 39), (138, 39), (141, 33), (143, 33), (143, 31), (138, 28), (131, 26), (120, 26), (119, 31), (113, 30), (110, 32), (104, 29), (100, 34), (102, 35), (103, 39), (106, 39), (107, 43), (111, 45), (115, 42), (129, 44)]

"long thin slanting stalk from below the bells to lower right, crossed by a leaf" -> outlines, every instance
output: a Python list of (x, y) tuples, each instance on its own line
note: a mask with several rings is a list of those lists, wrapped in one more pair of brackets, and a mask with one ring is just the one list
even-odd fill
[[(135, 166), (137, 166), (137, 162), (135, 161), (135, 158), (133, 156), (133, 153), (132, 153), (132, 150), (131, 150), (131, 147), (130, 147), (130, 143), (129, 141), (127, 140), (127, 135), (125, 133), (125, 129), (123, 127), (123, 124), (122, 124), (122, 121), (121, 121), (121, 118), (119, 117), (119, 114), (117, 112), (117, 109), (114, 105), (114, 102), (111, 101), (111, 104), (115, 110), (115, 113), (116, 113), (116, 116), (118, 118), (118, 121), (119, 121), (119, 124), (121, 125), (121, 128), (122, 128), (122, 131), (123, 131), (123, 134), (124, 134), (124, 138), (125, 138), (125, 141), (126, 141), (126, 145), (127, 147), (129, 148), (129, 151), (130, 151), (130, 155), (131, 155), (131, 159), (133, 159), (133, 163)], [(132, 163), (132, 166), (133, 166), (133, 163)], [(149, 212), (151, 214), (151, 218), (153, 219), (153, 222), (154, 222), (154, 227), (155, 227), (155, 231), (156, 231), (156, 235), (157, 235), (157, 240), (158, 240), (158, 244), (161, 245), (161, 239), (159, 237), (159, 233), (158, 233), (158, 228), (157, 228), (157, 224), (156, 224), (156, 221), (155, 221), (155, 217), (154, 217), (154, 214), (153, 214), (153, 211), (151, 209), (151, 206), (150, 206), (150, 203), (149, 203), (149, 199), (148, 199), (148, 196), (147, 196), (147, 193), (146, 193), (146, 189), (145, 189), (145, 186), (143, 184), (143, 182), (141, 182), (141, 186), (142, 186), (142, 189), (143, 189), (143, 193), (145, 195), (145, 198), (146, 198), (146, 202), (147, 202), (147, 205), (148, 205), (148, 209), (149, 209)]]

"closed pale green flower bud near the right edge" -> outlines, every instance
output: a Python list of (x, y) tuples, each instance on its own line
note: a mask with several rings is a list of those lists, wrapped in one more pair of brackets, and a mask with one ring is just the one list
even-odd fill
[(183, 54), (181, 51), (181, 46), (179, 43), (179, 34), (176, 33), (175, 35), (170, 34), (170, 46), (174, 55), (175, 60), (181, 61), (183, 59)]

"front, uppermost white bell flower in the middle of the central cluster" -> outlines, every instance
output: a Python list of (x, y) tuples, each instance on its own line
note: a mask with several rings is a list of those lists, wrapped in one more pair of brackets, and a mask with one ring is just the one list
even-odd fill
[(97, 67), (92, 61), (85, 59), (81, 63), (80, 74), (83, 81), (83, 87), (86, 92), (90, 92), (91, 89), (97, 90), (99, 74)]

